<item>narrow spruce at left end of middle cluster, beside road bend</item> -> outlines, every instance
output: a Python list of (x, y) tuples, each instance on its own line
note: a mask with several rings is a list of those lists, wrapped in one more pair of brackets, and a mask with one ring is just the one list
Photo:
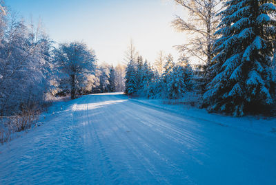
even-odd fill
[(137, 91), (137, 71), (135, 62), (130, 60), (126, 67), (125, 94), (133, 95)]

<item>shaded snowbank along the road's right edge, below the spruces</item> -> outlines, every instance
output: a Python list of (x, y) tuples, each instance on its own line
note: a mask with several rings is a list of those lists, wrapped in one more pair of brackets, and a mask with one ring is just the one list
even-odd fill
[(132, 98), (131, 100), (159, 109), (180, 113), (184, 116), (207, 120), (222, 126), (235, 127), (244, 131), (276, 137), (276, 118), (263, 116), (244, 116), (237, 118), (233, 116), (223, 116), (217, 113), (208, 113), (206, 109), (198, 109), (189, 105), (168, 105), (166, 104), (166, 100), (148, 100), (144, 98)]

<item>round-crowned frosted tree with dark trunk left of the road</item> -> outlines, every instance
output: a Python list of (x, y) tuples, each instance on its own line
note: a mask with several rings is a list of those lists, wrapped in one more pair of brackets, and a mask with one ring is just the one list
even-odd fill
[(66, 78), (70, 80), (71, 98), (83, 87), (83, 82), (95, 70), (96, 56), (85, 43), (72, 42), (59, 44), (54, 50), (55, 64)]

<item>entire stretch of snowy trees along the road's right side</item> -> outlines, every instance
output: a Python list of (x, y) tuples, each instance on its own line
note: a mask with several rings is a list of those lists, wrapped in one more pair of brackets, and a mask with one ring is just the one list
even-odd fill
[[(188, 43), (177, 46), (185, 57), (175, 64), (167, 56), (164, 64), (161, 52), (147, 78), (139, 75), (145, 70), (140, 69), (139, 59), (130, 58), (126, 94), (181, 98), (192, 91), (198, 95), (201, 107), (211, 112), (234, 116), (275, 113), (275, 2), (175, 3), (190, 13), (187, 19), (176, 17), (172, 21), (176, 30), (190, 36)], [(188, 60), (201, 64), (190, 67)]]

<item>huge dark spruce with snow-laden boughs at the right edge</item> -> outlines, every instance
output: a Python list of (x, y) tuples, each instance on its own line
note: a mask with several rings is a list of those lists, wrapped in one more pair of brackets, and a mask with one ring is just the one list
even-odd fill
[(216, 34), (215, 78), (208, 84), (204, 103), (210, 111), (243, 116), (273, 103), (272, 70), (276, 8), (268, 0), (231, 0), (221, 11)]

